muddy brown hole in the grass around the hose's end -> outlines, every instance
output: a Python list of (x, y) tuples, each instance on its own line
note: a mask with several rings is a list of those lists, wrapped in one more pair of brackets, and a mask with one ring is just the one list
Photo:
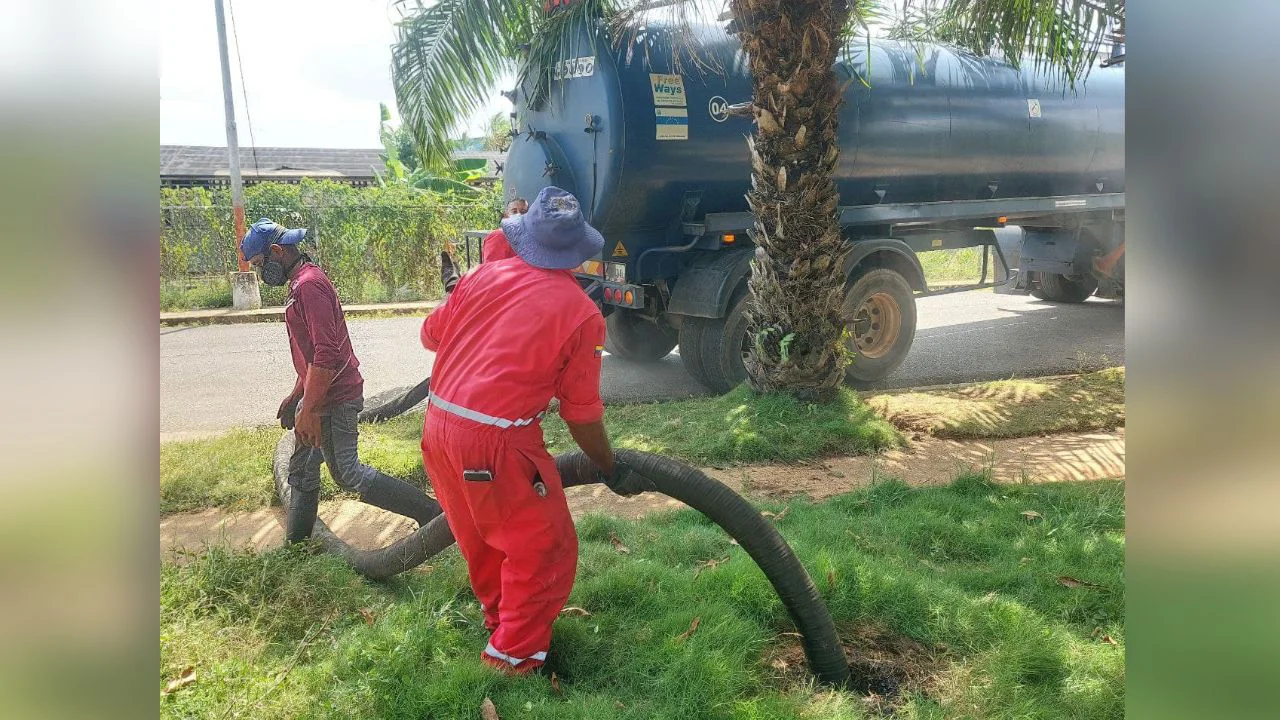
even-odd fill
[[(892, 716), (913, 694), (932, 696), (945, 666), (946, 648), (927, 646), (876, 625), (837, 628), (849, 661), (850, 691), (863, 696), (867, 708)], [(782, 633), (764, 652), (764, 666), (782, 685), (808, 682), (800, 633)]]

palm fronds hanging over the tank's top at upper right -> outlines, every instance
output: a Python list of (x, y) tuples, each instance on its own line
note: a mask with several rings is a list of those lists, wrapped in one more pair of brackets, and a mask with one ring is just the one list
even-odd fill
[(1001, 54), (1069, 85), (1085, 78), (1103, 40), (1124, 24), (1124, 0), (904, 0), (890, 37)]

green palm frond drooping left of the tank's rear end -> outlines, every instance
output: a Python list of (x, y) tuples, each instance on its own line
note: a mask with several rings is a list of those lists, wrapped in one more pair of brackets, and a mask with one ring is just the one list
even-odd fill
[(541, 8), (529, 0), (419, 0), (397, 9), (396, 104), (419, 159), (443, 167), (451, 160), (448, 138), (517, 69), (517, 50), (532, 37)]

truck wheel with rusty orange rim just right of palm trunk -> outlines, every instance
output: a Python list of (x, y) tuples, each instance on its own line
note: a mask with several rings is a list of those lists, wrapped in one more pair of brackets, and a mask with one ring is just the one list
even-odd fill
[(915, 295), (906, 278), (886, 268), (855, 275), (845, 293), (844, 314), (854, 352), (846, 382), (861, 386), (882, 380), (906, 360), (915, 340)]

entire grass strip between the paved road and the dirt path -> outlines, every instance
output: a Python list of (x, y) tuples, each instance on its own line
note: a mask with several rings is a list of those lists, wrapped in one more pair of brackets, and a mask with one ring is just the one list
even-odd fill
[[(859, 398), (845, 389), (829, 405), (786, 396), (753, 396), (745, 387), (721, 397), (609, 406), (614, 445), (660, 452), (695, 465), (787, 462), (864, 455), (901, 445), (901, 432), (948, 438), (1029, 437), (1098, 430), (1125, 421), (1124, 368), (1083, 375), (997, 380)], [(564, 423), (544, 421), (552, 452), (573, 448)], [(276, 427), (232, 430), (215, 438), (160, 446), (160, 511), (204, 507), (248, 510), (271, 503)], [(424, 484), (420, 413), (360, 432), (361, 459)], [(321, 496), (335, 495), (328, 468)]]

